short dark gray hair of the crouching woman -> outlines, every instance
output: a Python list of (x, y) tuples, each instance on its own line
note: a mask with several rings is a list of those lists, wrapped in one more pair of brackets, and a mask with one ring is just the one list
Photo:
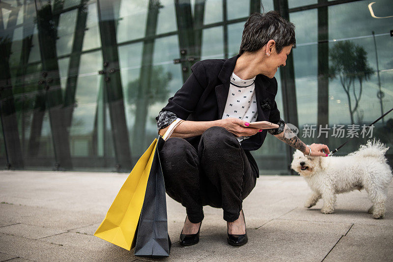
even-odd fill
[(296, 43), (295, 26), (275, 11), (253, 13), (244, 24), (239, 55), (256, 52), (271, 39), (276, 41), (277, 53), (281, 53), (282, 48)]

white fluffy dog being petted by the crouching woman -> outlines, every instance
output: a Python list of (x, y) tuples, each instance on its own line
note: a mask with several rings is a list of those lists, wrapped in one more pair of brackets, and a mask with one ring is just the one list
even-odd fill
[(393, 178), (385, 158), (388, 149), (374, 139), (346, 156), (306, 157), (296, 150), (291, 168), (306, 179), (313, 191), (305, 206), (310, 208), (322, 198), (321, 212), (330, 214), (334, 212), (336, 194), (364, 188), (372, 202), (368, 213), (373, 218), (382, 218), (386, 211), (387, 187)]

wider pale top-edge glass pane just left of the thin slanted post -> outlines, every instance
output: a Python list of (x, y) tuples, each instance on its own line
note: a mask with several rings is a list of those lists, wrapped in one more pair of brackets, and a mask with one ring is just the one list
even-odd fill
[(144, 37), (148, 2), (121, 1), (116, 34), (118, 43)]

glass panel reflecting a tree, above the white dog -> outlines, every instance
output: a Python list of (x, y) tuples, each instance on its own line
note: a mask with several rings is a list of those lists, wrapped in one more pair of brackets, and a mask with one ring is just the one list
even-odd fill
[[(359, 125), (352, 126), (359, 138), (351, 139), (350, 145), (344, 146), (340, 154), (364, 144), (366, 136), (362, 134), (362, 126), (393, 107), (392, 37), (389, 33), (392, 18), (373, 17), (368, 4), (369, 1), (357, 1), (329, 6), (329, 66), (342, 69), (331, 71), (336, 77), (329, 81), (329, 121), (331, 126), (345, 126), (344, 138), (337, 134), (332, 137), (331, 134), (332, 145), (338, 146), (348, 139), (346, 136), (351, 124)], [(393, 2), (381, 0), (372, 4), (371, 8), (376, 17), (391, 16)], [(338, 59), (337, 54), (340, 54)], [(348, 85), (351, 79), (352, 84)], [(347, 94), (345, 89), (348, 88)], [(374, 124), (372, 136), (392, 146), (392, 122), (391, 113)], [(391, 147), (387, 152), (390, 160), (393, 159), (392, 154)]]

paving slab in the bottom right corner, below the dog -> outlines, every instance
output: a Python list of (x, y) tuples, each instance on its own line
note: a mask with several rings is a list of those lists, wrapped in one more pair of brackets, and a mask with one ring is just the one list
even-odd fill
[(393, 261), (393, 225), (355, 224), (325, 261)]

